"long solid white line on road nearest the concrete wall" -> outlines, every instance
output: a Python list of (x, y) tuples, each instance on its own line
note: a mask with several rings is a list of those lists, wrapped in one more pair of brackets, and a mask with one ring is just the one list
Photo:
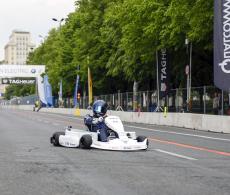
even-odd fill
[(160, 132), (160, 133), (168, 133), (168, 134), (175, 134), (175, 135), (185, 135), (185, 136), (191, 136), (191, 137), (198, 137), (198, 138), (204, 138), (204, 139), (212, 139), (212, 140), (219, 140), (219, 141), (227, 141), (230, 142), (230, 139), (224, 139), (224, 138), (218, 138), (218, 137), (209, 137), (204, 135), (196, 135), (196, 134), (188, 134), (188, 133), (178, 133), (175, 131), (164, 131), (164, 130), (158, 130), (158, 129), (150, 129), (146, 127), (137, 127), (137, 126), (130, 126), (130, 125), (124, 125), (126, 127), (130, 128), (136, 128), (136, 129), (144, 129), (148, 131), (154, 131), (154, 132)]

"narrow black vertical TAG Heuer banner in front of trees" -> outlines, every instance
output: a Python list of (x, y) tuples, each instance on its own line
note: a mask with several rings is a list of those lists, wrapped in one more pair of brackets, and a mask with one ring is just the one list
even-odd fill
[(169, 60), (166, 49), (158, 51), (159, 98), (169, 93)]

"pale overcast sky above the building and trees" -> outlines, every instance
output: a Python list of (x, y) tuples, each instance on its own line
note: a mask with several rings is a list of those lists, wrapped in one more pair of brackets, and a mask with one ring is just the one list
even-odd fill
[[(29, 31), (38, 46), (49, 30), (57, 28), (56, 18), (67, 18), (74, 12), (75, 0), (0, 0), (0, 60), (13, 30)], [(63, 24), (63, 23), (62, 23)]]

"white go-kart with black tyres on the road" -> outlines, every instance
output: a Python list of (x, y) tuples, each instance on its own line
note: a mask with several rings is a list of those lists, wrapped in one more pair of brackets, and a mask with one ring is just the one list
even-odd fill
[(99, 131), (91, 132), (90, 127), (88, 130), (80, 130), (69, 126), (64, 132), (55, 132), (50, 138), (50, 143), (54, 146), (120, 151), (146, 150), (148, 148), (148, 139), (145, 136), (136, 136), (135, 132), (124, 131), (119, 117), (107, 116), (104, 118), (104, 122), (109, 128), (107, 142), (100, 141)]

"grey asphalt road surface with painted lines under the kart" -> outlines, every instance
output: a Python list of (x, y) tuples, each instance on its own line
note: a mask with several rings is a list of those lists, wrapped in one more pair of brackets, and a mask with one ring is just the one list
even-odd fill
[(53, 147), (49, 137), (81, 118), (0, 109), (1, 195), (229, 195), (230, 135), (125, 124), (147, 151)]

